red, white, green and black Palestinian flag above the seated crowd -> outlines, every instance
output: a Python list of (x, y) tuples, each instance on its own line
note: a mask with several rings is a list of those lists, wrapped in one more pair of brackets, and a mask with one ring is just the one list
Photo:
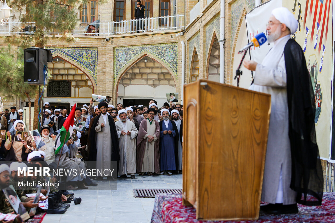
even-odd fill
[(57, 155), (62, 150), (64, 142), (66, 143), (72, 135), (75, 108), (76, 104), (73, 105), (73, 109), (71, 110), (69, 116), (65, 119), (65, 122), (61, 128), (61, 132), (56, 139), (55, 155)]

